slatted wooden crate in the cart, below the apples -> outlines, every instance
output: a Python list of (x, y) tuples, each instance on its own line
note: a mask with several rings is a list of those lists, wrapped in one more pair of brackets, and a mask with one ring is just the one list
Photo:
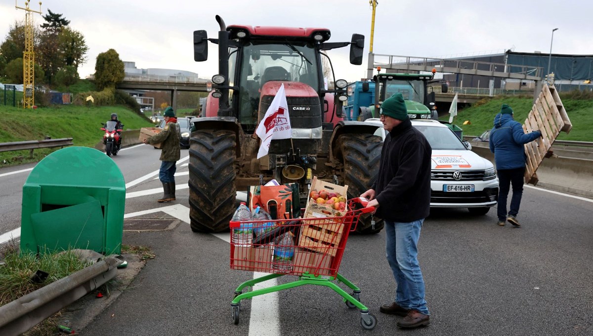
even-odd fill
[(341, 220), (318, 218), (303, 224), (299, 232), (299, 247), (336, 256), (344, 230)]

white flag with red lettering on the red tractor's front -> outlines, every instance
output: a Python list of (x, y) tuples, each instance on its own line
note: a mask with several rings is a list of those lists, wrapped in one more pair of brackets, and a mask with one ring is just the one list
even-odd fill
[(257, 159), (267, 155), (272, 139), (292, 138), (291, 119), (288, 116), (284, 84), (280, 86), (272, 104), (266, 111), (266, 115), (257, 126), (256, 134), (262, 139)]

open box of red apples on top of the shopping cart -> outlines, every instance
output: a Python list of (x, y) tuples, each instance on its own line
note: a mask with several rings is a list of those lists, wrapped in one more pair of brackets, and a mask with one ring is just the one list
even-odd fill
[[(347, 190), (348, 186), (334, 185), (333, 183), (318, 180), (317, 176), (315, 176), (309, 190), (306, 209), (310, 208), (311, 203), (316, 203), (335, 210), (340, 213), (340, 216), (343, 216), (347, 211)], [(305, 214), (308, 213), (307, 210), (305, 210)]]

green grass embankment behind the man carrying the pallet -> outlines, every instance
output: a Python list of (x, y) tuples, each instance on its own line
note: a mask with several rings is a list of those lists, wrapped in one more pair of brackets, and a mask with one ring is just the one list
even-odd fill
[[(568, 113), (572, 130), (569, 134), (561, 132), (558, 140), (593, 141), (593, 99), (573, 99), (562, 95), (560, 97)], [(460, 110), (454, 124), (463, 128), (463, 135), (480, 135), (492, 128), (494, 117), (502, 104), (510, 105), (515, 112), (515, 120), (524, 124), (533, 106), (533, 97), (497, 96), (483, 99), (471, 107)], [(441, 119), (448, 121), (449, 115), (443, 115)], [(466, 120), (471, 124), (463, 125)]]

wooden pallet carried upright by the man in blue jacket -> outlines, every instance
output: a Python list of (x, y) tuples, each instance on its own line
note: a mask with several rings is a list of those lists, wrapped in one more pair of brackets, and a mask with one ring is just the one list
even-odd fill
[(544, 84), (540, 96), (535, 100), (523, 125), (525, 132), (540, 130), (542, 135), (541, 138), (525, 144), (525, 154), (527, 154), (525, 183), (537, 185), (538, 179), (535, 172), (540, 167), (541, 161), (546, 157), (560, 132), (569, 133), (571, 129), (572, 124), (556, 88)]

